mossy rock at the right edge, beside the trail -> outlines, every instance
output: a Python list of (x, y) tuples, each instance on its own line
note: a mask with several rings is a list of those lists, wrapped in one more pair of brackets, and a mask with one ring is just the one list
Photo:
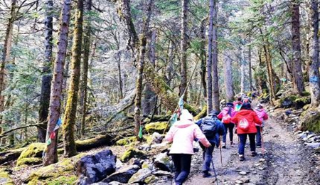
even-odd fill
[(306, 110), (302, 114), (300, 121), (302, 131), (309, 130), (311, 132), (320, 133), (320, 112), (314, 110)]

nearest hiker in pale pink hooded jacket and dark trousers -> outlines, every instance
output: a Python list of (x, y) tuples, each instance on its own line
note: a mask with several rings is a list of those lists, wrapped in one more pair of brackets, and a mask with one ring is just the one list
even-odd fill
[(198, 138), (205, 147), (211, 146), (201, 129), (193, 122), (193, 116), (188, 110), (182, 110), (180, 120), (174, 123), (166, 134), (166, 140), (173, 142), (169, 154), (176, 169), (174, 175), (176, 185), (186, 181), (190, 173), (195, 138)]

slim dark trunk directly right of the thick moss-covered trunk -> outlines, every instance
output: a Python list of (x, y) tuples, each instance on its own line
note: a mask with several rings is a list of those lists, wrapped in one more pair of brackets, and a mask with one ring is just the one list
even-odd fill
[[(88, 0), (85, 11), (90, 12), (92, 8), (92, 0)], [(81, 104), (82, 104), (82, 117), (81, 117), (81, 130), (80, 136), (85, 135), (85, 115), (87, 114), (87, 72), (89, 66), (90, 45), (91, 45), (91, 25), (90, 17), (85, 25), (85, 34), (83, 36), (83, 63), (82, 63), (82, 91), (81, 91)]]

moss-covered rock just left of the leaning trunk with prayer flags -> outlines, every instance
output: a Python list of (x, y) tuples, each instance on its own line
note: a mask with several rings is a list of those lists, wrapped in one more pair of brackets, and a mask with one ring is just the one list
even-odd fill
[(20, 154), (16, 162), (16, 166), (21, 166), (23, 164), (41, 164), (42, 153), (45, 149), (45, 143), (32, 143)]

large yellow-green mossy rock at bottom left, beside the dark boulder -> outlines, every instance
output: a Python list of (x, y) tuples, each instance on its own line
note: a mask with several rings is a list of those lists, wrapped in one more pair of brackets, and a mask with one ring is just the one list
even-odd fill
[(63, 161), (49, 166), (41, 167), (33, 171), (23, 182), (26, 184), (75, 184), (75, 164), (85, 154), (78, 154), (75, 157), (63, 159)]

